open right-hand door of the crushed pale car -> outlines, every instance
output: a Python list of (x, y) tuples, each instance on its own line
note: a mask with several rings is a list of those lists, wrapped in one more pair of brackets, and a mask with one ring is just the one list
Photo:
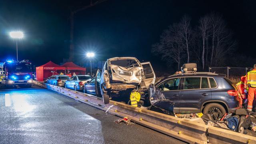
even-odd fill
[(141, 63), (143, 67), (144, 77), (142, 78), (145, 86), (148, 87), (150, 84), (154, 84), (156, 80), (156, 75), (154, 70), (150, 64), (150, 62), (143, 62)]

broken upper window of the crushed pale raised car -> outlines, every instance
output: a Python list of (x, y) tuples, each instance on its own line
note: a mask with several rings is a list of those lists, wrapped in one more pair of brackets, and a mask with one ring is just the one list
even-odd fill
[(116, 66), (122, 66), (125, 68), (132, 68), (132, 67), (138, 67), (140, 66), (138, 62), (134, 59), (116, 59), (116, 60), (111, 60), (110, 64), (116, 65)]

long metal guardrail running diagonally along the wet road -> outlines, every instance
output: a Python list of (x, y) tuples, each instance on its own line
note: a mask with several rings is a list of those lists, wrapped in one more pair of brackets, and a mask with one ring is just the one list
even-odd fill
[(178, 138), (190, 144), (256, 144), (256, 138), (230, 130), (224, 130), (213, 126), (207, 126), (197, 122), (192, 122), (182, 118), (176, 118), (159, 112), (135, 108), (128, 104), (110, 100), (109, 104), (104, 104), (101, 98), (77, 92), (74, 90), (53, 86), (42, 82), (34, 81), (34, 84), (54, 90), (60, 94), (89, 104), (96, 108), (106, 111), (120, 117), (129, 117), (133, 122), (162, 132), (174, 138)]

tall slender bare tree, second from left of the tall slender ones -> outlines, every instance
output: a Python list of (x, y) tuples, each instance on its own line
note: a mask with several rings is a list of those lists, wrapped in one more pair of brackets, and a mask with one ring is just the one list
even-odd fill
[(205, 66), (205, 59), (204, 59), (204, 53), (205, 53), (205, 40), (206, 38), (208, 38), (208, 31), (209, 31), (209, 24), (210, 24), (210, 17), (208, 15), (203, 16), (202, 18), (200, 18), (199, 20), (199, 32), (202, 38), (202, 69), (204, 70), (204, 66)]

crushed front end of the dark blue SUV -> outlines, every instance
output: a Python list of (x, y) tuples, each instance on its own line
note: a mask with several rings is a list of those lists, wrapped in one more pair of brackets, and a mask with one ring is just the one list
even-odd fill
[(174, 102), (168, 100), (165, 98), (164, 94), (158, 90), (154, 84), (150, 84), (148, 88), (148, 93), (150, 96), (150, 103), (153, 106), (163, 108), (165, 110), (173, 111), (174, 108)]

